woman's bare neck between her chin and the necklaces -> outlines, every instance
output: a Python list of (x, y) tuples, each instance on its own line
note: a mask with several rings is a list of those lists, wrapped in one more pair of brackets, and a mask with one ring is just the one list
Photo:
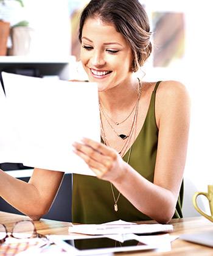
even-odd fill
[(138, 79), (131, 77), (130, 80), (117, 85), (107, 91), (99, 92), (101, 104), (108, 112), (115, 112), (130, 108), (138, 97)]

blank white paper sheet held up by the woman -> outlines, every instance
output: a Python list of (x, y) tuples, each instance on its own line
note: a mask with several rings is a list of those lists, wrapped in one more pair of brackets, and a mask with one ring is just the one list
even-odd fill
[(100, 141), (97, 84), (4, 72), (2, 78), (0, 163), (94, 176), (72, 143), (83, 137)]

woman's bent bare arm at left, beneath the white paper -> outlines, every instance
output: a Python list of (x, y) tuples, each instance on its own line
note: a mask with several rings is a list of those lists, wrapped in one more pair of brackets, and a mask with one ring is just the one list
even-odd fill
[(40, 219), (51, 207), (63, 175), (64, 172), (34, 169), (27, 183), (0, 170), (0, 196), (30, 218)]

